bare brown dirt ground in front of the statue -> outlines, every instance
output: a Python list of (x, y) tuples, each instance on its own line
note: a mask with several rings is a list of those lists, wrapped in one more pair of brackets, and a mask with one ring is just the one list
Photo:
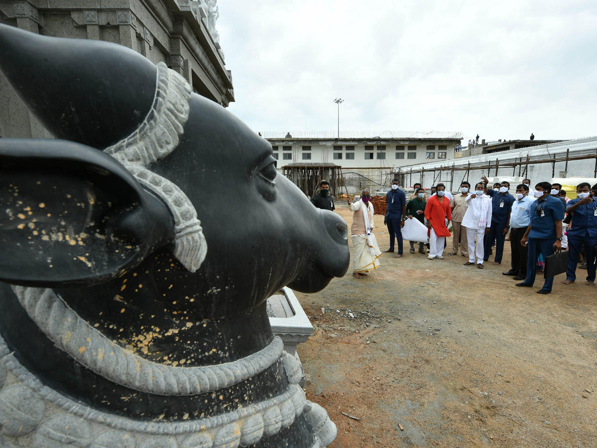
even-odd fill
[[(336, 211), (350, 228), (352, 213)], [(364, 280), (351, 265), (320, 293), (297, 293), (314, 327), (298, 348), (307, 398), (338, 428), (329, 447), (597, 446), (597, 289), (586, 271), (540, 295), (542, 275), (521, 288), (501, 274), (509, 242), (502, 265), (490, 257), (483, 270), (450, 247), (427, 260), (406, 242)]]

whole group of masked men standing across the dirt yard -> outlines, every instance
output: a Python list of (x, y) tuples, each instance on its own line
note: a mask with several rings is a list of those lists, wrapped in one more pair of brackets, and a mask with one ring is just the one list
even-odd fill
[[(428, 259), (443, 259), (447, 246), (445, 238), (453, 236), (450, 256), (458, 254), (467, 258), (465, 266), (484, 268), (493, 254), (494, 265), (503, 259), (506, 235), (510, 235), (512, 258), (510, 269), (503, 275), (511, 276), (519, 287), (532, 287), (537, 274), (538, 260), (544, 260), (556, 250), (567, 248), (568, 269), (564, 284), (576, 280), (579, 257), (584, 257), (588, 286), (595, 285), (597, 253), (597, 185), (580, 183), (578, 197), (568, 200), (558, 183), (539, 182), (531, 187), (525, 179), (516, 186), (516, 197), (509, 193), (510, 183), (501, 182), (488, 188), (487, 177), (482, 177), (473, 189), (469, 182), (462, 182), (460, 192), (452, 195), (445, 185), (438, 183), (427, 194), (421, 185), (414, 185), (414, 192), (407, 201), (398, 180), (393, 180), (392, 189), (387, 192), (387, 211), (384, 225), (390, 236), (390, 246), (384, 251), (400, 258), (404, 254), (401, 229), (405, 220), (417, 219), (429, 229), (426, 241), (410, 241), (410, 253), (426, 254)], [(329, 185), (323, 181), (320, 192), (313, 196), (316, 207), (334, 210), (329, 196)], [(373, 234), (373, 205), (371, 190), (364, 189), (361, 198), (348, 200), (353, 211), (351, 227), (353, 241), (353, 277), (362, 279), (367, 272), (376, 269), (380, 263), (381, 251)], [(448, 226), (452, 223), (453, 235)], [(564, 242), (564, 245), (562, 244)], [(539, 294), (549, 294), (553, 288), (553, 277), (546, 278)]]

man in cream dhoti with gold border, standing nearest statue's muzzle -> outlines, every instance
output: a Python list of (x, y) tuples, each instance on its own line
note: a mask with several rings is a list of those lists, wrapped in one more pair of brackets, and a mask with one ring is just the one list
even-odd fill
[(377, 240), (373, 234), (373, 204), (371, 204), (371, 190), (361, 191), (361, 199), (350, 202), (352, 214), (352, 276), (362, 280), (371, 269), (379, 267), (377, 260), (381, 256)]

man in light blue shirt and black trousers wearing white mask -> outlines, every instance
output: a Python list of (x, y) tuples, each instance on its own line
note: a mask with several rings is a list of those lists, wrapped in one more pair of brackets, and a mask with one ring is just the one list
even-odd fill
[(503, 275), (513, 275), (514, 280), (527, 278), (527, 246), (522, 246), (521, 240), (524, 237), (527, 227), (531, 222), (533, 204), (535, 198), (528, 195), (528, 186), (524, 183), (516, 186), (516, 201), (512, 204), (510, 214), (510, 249), (512, 250), (512, 268), (510, 271), (502, 272)]

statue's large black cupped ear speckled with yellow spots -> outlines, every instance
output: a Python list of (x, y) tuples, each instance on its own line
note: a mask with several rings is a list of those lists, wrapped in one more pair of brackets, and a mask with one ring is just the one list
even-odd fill
[(0, 281), (91, 286), (174, 239), (164, 202), (114, 158), (65, 140), (0, 139)]

